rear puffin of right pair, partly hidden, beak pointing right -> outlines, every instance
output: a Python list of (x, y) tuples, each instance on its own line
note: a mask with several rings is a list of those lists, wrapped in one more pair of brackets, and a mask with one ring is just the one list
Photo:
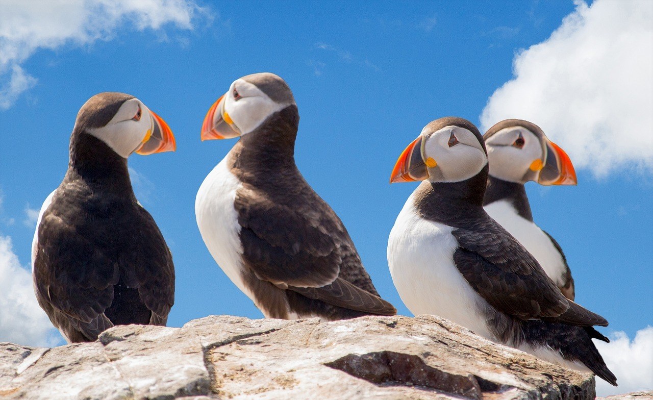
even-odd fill
[(575, 185), (569, 156), (542, 129), (524, 120), (503, 120), (483, 135), (490, 172), (483, 206), (528, 250), (569, 300), (575, 288), (560, 244), (533, 222), (524, 184)]

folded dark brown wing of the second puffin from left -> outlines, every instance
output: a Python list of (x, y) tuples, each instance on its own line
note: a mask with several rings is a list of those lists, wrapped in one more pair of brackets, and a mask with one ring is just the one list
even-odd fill
[(374, 289), (340, 218), (317, 195), (292, 207), (241, 188), (234, 207), (243, 259), (257, 278), (330, 305), (396, 314)]

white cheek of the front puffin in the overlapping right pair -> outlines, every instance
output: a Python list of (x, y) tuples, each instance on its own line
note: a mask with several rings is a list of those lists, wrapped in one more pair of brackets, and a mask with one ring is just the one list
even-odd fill
[[(451, 133), (458, 144), (449, 147)], [(487, 158), (475, 135), (462, 127), (444, 127), (426, 141), (424, 152), (438, 163), (445, 182), (460, 182), (481, 172)]]

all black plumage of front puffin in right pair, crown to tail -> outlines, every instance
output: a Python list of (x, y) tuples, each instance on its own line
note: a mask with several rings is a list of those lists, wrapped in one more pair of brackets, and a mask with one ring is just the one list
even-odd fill
[[(447, 125), (465, 127), (485, 149), (479, 131), (465, 120), (443, 118), (431, 124), (432, 131)], [(488, 165), (461, 182), (424, 181), (414, 196), (415, 209), (422, 218), (453, 228), (458, 242), (453, 263), (490, 305), (485, 318), (497, 338), (512, 346), (526, 343), (553, 349), (616, 385), (592, 342), (592, 338), (607, 341), (592, 327), (607, 321), (565, 298), (535, 258), (485, 212), (487, 180)]]

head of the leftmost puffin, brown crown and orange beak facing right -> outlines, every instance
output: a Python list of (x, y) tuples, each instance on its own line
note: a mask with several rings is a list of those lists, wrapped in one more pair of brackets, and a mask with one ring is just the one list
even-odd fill
[(123, 158), (133, 152), (146, 156), (176, 149), (168, 124), (125, 93), (104, 92), (88, 99), (77, 113), (73, 132), (96, 137)]

